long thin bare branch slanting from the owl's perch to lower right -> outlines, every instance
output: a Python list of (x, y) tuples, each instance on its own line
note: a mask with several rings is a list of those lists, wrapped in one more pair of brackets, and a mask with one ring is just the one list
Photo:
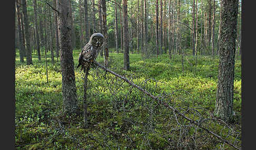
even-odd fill
[(192, 119), (190, 119), (189, 117), (186, 117), (183, 113), (180, 113), (178, 110), (174, 109), (172, 106), (168, 105), (167, 103), (161, 101), (159, 98), (155, 97), (154, 95), (152, 95), (151, 93), (147, 92), (146, 90), (144, 90), (143, 88), (141, 88), (139, 85), (134, 84), (132, 81), (128, 80), (127, 78), (121, 76), (120, 74), (115, 73), (114, 71), (111, 71), (109, 69), (107, 69), (106, 67), (102, 66), (100, 63), (93, 61), (93, 63), (102, 68), (103, 70), (110, 72), (111, 74), (113, 74), (116, 77), (119, 77), (120, 79), (124, 80), (125, 82), (129, 83), (130, 85), (132, 85), (132, 87), (135, 87), (137, 89), (139, 89), (140, 91), (142, 91), (143, 93), (145, 93), (146, 95), (148, 95), (149, 97), (151, 97), (152, 99), (156, 100), (157, 102), (159, 102), (160, 104), (164, 105), (166, 108), (169, 108), (171, 110), (173, 110), (174, 112), (178, 113), (178, 115), (181, 115), (184, 119), (188, 120), (189, 122), (195, 124), (196, 126), (202, 128), (204, 131), (214, 135), (215, 137), (219, 138), (223, 143), (227, 143), (230, 146), (234, 147), (235, 149), (241, 149), (240, 147), (237, 147), (235, 145), (233, 145), (232, 143), (230, 143), (229, 141), (223, 139), (220, 135), (213, 133), (212, 131), (208, 130), (207, 128), (204, 128), (200, 125), (199, 122), (195, 122)]

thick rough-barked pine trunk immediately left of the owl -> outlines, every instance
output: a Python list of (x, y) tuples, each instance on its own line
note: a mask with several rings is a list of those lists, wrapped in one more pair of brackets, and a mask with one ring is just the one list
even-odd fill
[(77, 109), (74, 61), (71, 41), (71, 14), (68, 13), (68, 0), (58, 0), (58, 37), (60, 38), (60, 57), (62, 71), (62, 96), (64, 113), (74, 113)]

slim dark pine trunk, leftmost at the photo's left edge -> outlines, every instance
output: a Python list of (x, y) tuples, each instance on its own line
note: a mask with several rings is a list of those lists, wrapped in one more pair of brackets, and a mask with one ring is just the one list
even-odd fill
[[(20, 2), (20, 1), (18, 1)], [(21, 30), (21, 12), (20, 8), (21, 6), (18, 5), (16, 2), (16, 12), (17, 12), (17, 25), (18, 25), (18, 39), (19, 39), (19, 59), (21, 62), (24, 62), (24, 55), (25, 55), (25, 42), (23, 42), (23, 35)]]

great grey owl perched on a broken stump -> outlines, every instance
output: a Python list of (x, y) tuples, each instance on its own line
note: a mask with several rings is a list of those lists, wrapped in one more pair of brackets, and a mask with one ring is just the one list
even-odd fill
[(78, 65), (81, 66), (81, 71), (90, 67), (91, 63), (97, 58), (101, 50), (104, 36), (101, 33), (95, 33), (91, 36), (90, 41), (83, 47), (79, 54)]

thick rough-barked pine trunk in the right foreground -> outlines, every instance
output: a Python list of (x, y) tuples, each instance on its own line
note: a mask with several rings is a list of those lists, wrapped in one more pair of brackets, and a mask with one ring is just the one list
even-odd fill
[(219, 76), (214, 114), (232, 121), (235, 39), (237, 39), (238, 1), (222, 0)]

